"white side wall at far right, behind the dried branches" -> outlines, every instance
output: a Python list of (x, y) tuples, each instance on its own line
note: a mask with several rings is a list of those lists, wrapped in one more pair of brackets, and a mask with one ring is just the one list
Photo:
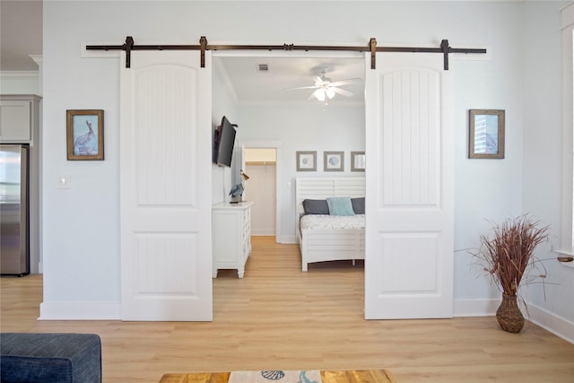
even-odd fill
[[(527, 49), (524, 58), (523, 210), (552, 226), (550, 241), (537, 251), (538, 257), (544, 259), (547, 284), (530, 285), (526, 299), (535, 306), (533, 317), (543, 325), (544, 318), (538, 315), (541, 309), (552, 312), (558, 321), (572, 322), (574, 268), (561, 265), (552, 252), (561, 248), (563, 80), (552, 75), (561, 74), (561, 59), (548, 57), (561, 57), (561, 13), (559, 7), (526, 2), (524, 15), (525, 24), (530, 26), (525, 30), (524, 44), (535, 49)], [(570, 339), (574, 340), (574, 324), (570, 325)]]

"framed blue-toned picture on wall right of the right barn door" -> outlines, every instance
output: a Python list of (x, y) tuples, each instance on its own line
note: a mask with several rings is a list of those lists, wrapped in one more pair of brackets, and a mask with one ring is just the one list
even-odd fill
[(504, 158), (503, 109), (469, 109), (468, 158)]

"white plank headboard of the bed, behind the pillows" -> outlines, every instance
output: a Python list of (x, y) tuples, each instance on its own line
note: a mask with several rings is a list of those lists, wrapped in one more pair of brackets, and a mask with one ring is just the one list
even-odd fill
[(329, 196), (365, 196), (364, 177), (298, 177), (295, 180), (297, 216), (303, 212), (304, 199), (325, 199)]

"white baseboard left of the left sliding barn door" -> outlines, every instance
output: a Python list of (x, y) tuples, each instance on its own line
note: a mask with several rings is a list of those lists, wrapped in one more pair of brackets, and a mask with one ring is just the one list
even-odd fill
[(121, 302), (42, 302), (39, 320), (118, 320)]

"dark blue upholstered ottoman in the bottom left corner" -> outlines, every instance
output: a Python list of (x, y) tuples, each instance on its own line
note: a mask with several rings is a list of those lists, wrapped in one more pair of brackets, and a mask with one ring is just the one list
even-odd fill
[(2, 382), (101, 382), (95, 334), (0, 334)]

